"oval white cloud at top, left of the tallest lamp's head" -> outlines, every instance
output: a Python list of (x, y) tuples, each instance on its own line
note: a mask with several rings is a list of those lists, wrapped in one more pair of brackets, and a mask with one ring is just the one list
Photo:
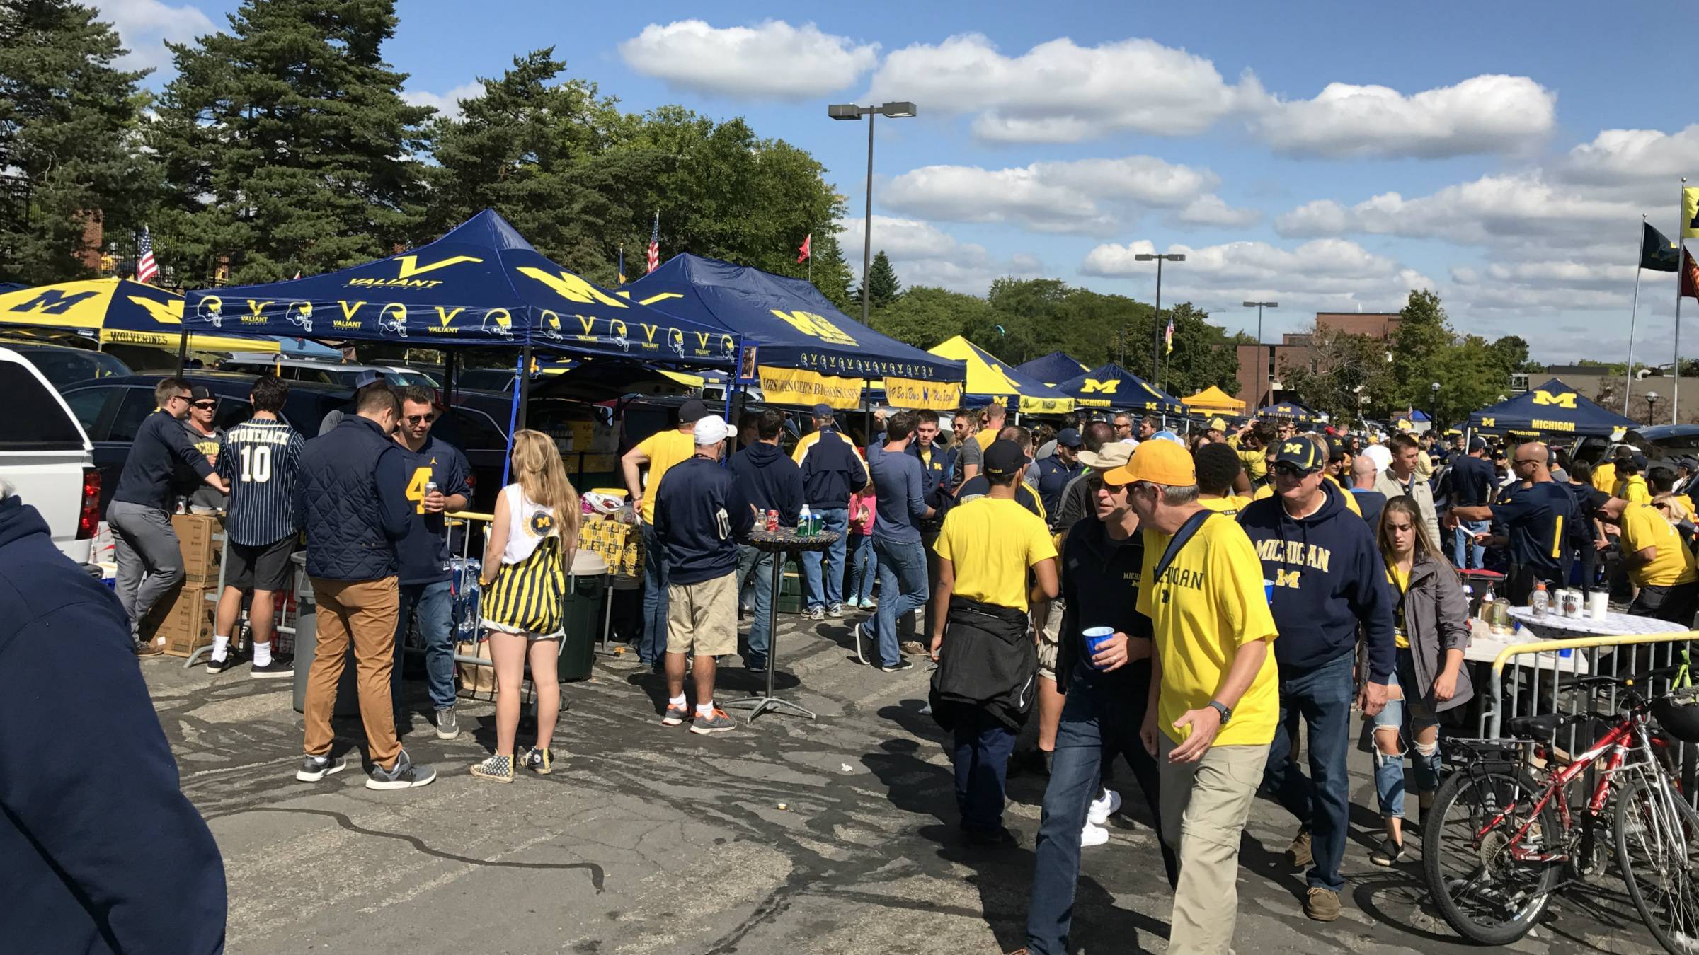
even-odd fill
[(632, 70), (673, 88), (739, 99), (805, 100), (856, 82), (878, 61), (878, 44), (766, 20), (712, 27), (703, 20), (649, 24), (620, 42)]

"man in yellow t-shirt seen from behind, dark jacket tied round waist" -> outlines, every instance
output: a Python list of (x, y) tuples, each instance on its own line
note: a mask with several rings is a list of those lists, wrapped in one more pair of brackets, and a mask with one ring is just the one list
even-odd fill
[[(1014, 442), (985, 449), (984, 498), (950, 508), (933, 549), (933, 719), (955, 736), (957, 807), (970, 843), (1016, 845), (1002, 826), (1002, 782), (1038, 678), (1026, 608), (1055, 600), (1055, 544), (1043, 518), (1014, 500), (1026, 457)], [(1031, 571), (1033, 585), (1028, 585)]]

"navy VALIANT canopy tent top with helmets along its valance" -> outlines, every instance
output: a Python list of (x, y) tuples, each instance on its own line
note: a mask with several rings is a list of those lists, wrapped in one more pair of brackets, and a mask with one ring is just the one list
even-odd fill
[(731, 367), (734, 333), (615, 296), (539, 253), (491, 209), (440, 240), (340, 272), (189, 292), (183, 325), (445, 345), (547, 345), (644, 362)]

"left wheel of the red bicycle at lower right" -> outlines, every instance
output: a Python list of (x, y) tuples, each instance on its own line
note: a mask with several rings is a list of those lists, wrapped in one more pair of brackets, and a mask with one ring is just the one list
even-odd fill
[[(1439, 914), (1463, 938), (1509, 945), (1544, 914), (1558, 884), (1558, 863), (1524, 862), (1510, 843), (1529, 822), (1539, 788), (1510, 766), (1453, 773), (1422, 822), (1422, 872)], [(1541, 850), (1561, 838), (1548, 804), (1517, 843)]]

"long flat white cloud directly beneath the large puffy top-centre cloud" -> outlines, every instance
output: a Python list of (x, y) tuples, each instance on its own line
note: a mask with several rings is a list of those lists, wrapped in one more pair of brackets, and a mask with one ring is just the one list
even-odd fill
[(929, 219), (1109, 235), (1142, 207), (1184, 207), (1218, 184), (1220, 177), (1206, 168), (1126, 156), (1002, 170), (923, 167), (890, 180), (878, 199), (890, 209)]

